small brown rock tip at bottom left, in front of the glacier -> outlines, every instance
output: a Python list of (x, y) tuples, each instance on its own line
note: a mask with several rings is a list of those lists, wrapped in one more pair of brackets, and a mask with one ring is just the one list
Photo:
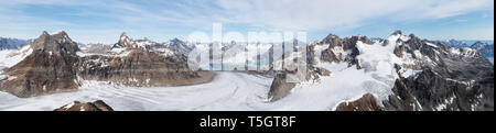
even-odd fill
[(54, 111), (114, 111), (107, 103), (101, 100), (95, 102), (79, 102), (74, 101), (69, 104), (65, 104)]

